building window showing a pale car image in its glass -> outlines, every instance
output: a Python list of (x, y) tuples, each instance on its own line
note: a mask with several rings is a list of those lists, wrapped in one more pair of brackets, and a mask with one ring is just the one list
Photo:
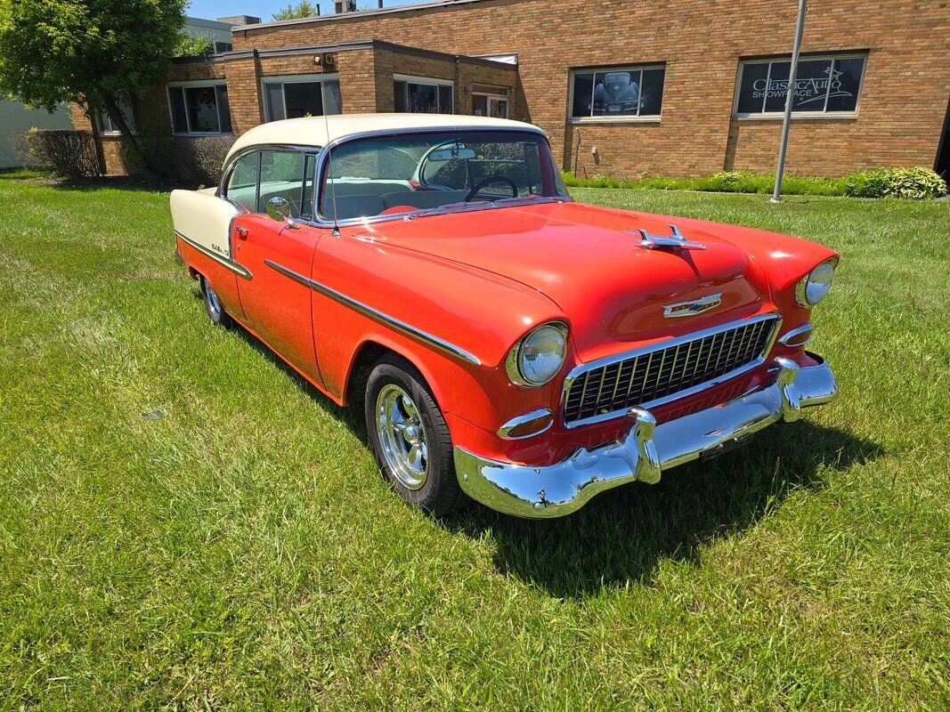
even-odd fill
[(571, 74), (572, 121), (656, 120), (663, 108), (664, 66), (618, 66)]

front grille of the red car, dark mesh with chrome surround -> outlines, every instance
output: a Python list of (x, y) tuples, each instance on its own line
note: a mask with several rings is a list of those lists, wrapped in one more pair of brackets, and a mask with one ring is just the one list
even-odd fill
[(675, 345), (637, 351), (629, 357), (594, 366), (573, 379), (564, 394), (564, 422), (622, 412), (706, 384), (756, 362), (769, 345), (776, 317), (769, 315), (738, 327), (703, 331)]

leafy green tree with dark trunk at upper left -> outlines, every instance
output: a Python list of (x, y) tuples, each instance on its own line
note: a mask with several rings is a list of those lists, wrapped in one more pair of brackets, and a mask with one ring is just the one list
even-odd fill
[(52, 112), (104, 111), (134, 154), (121, 103), (165, 77), (180, 46), (186, 0), (0, 0), (0, 93)]

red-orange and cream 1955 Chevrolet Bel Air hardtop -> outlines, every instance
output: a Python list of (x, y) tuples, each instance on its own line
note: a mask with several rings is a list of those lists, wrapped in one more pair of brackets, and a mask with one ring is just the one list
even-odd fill
[(580, 205), (527, 123), (266, 123), (171, 210), (211, 321), (363, 403), (385, 478), (434, 515), (565, 515), (837, 394), (805, 350), (836, 253)]

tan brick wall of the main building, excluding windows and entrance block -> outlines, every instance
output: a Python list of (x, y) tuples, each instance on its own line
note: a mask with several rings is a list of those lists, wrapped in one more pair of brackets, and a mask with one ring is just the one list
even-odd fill
[[(458, 54), (518, 53), (519, 113), (548, 132), (565, 166), (580, 139), (581, 173), (704, 175), (730, 164), (774, 168), (779, 124), (733, 121), (732, 99), (740, 57), (789, 52), (795, 11), (796, 3), (774, 0), (486, 0), (241, 30), (234, 40), (236, 49), (375, 38)], [(834, 175), (932, 165), (950, 95), (948, 36), (946, 0), (812, 0), (804, 51), (866, 49), (869, 58), (859, 116), (796, 121), (789, 168)], [(570, 67), (654, 62), (667, 66), (661, 122), (566, 122)], [(381, 86), (377, 92), (385, 99)]]

